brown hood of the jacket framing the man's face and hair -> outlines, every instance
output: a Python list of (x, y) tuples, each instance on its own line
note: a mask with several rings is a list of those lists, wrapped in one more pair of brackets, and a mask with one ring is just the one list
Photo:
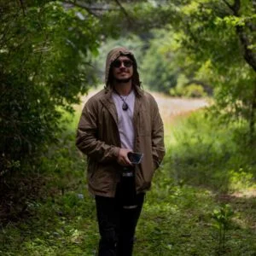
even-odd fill
[(141, 86), (141, 82), (139, 79), (139, 74), (137, 72), (137, 61), (135, 59), (135, 56), (131, 52), (131, 50), (126, 49), (125, 47), (115, 47), (111, 49), (108, 53), (107, 60), (106, 60), (106, 69), (105, 69), (105, 84), (106, 89), (112, 88), (111, 84), (111, 64), (113, 61), (115, 61), (119, 55), (127, 55), (131, 61), (133, 61), (133, 77), (132, 77), (132, 84), (135, 88), (135, 90), (138, 93), (138, 89)]

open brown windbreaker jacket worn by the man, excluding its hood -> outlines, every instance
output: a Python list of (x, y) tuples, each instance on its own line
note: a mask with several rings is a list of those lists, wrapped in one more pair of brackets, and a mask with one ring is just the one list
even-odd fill
[[(110, 57), (112, 61), (116, 59), (113, 55)], [(165, 155), (165, 147), (163, 123), (154, 97), (137, 85), (134, 90), (137, 91), (133, 113), (134, 151), (144, 154), (141, 164), (136, 166), (137, 193), (140, 193), (150, 188), (154, 171)], [(86, 102), (76, 140), (77, 147), (88, 156), (90, 193), (108, 197), (115, 195), (121, 170), (117, 163), (121, 147), (118, 114), (112, 91), (107, 87)]]

